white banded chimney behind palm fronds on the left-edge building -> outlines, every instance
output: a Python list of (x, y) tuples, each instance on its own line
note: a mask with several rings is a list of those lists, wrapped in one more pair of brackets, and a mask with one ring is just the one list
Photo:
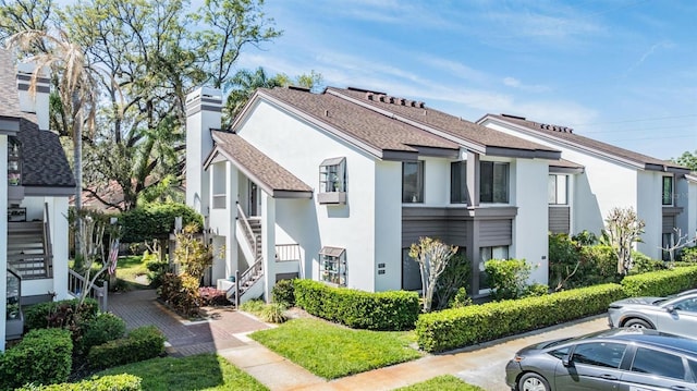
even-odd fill
[(20, 110), (36, 114), (39, 130), (48, 131), (49, 95), (51, 87), (48, 75), (41, 70), (36, 81), (36, 90), (29, 91), (32, 77), (36, 65), (33, 63), (17, 64), (17, 90), (20, 93)]

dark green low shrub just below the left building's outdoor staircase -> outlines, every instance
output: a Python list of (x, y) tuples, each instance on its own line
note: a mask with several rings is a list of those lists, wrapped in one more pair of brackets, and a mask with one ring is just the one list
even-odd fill
[(24, 309), (24, 328), (34, 330), (71, 327), (74, 326), (75, 313), (83, 322), (94, 319), (99, 313), (99, 305), (93, 298), (86, 298), (80, 308), (78, 303), (77, 298), (73, 298), (32, 305)]

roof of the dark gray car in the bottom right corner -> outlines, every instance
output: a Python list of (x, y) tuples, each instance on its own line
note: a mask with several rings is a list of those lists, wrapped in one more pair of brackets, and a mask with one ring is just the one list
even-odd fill
[(565, 343), (579, 343), (587, 340), (612, 340), (624, 342), (637, 342), (644, 345), (664, 347), (680, 351), (697, 358), (697, 340), (673, 335), (650, 329), (617, 328), (585, 334), (564, 341)]

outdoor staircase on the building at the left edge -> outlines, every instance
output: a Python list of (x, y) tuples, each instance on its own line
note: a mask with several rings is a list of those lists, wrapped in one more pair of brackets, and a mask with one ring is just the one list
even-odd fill
[(47, 222), (8, 222), (8, 265), (23, 280), (53, 277), (51, 248)]

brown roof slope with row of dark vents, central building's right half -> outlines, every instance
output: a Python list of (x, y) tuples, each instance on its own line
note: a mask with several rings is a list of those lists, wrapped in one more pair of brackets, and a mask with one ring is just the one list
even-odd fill
[[(407, 99), (384, 96), (381, 93), (370, 93), (355, 88), (328, 88), (330, 91), (348, 96), (364, 105), (406, 118), (415, 123), (419, 123), (452, 137), (462, 139), (482, 148), (496, 147), (528, 151), (559, 152), (554, 148), (528, 142), (519, 137), (508, 135), (486, 126), (463, 120), (460, 117), (435, 110), (424, 106), (423, 102), (414, 102)], [(383, 101), (382, 101), (383, 100)]]

